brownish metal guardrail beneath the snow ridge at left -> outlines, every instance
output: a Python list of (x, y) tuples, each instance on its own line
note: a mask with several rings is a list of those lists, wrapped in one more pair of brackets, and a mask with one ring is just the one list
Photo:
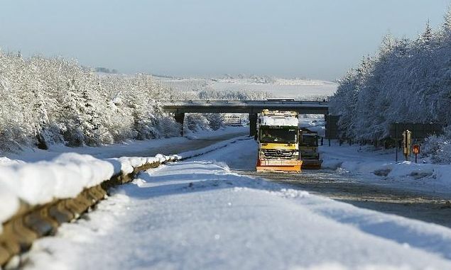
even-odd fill
[(58, 199), (40, 206), (31, 206), (21, 201), (16, 214), (3, 223), (0, 234), (0, 266), (7, 264), (15, 255), (26, 252), (34, 240), (53, 235), (62, 223), (79, 218), (89, 208), (102, 201), (110, 188), (129, 183), (139, 171), (156, 168), (175, 160), (178, 158), (171, 157), (165, 161), (141, 164), (128, 174), (121, 171), (111, 179), (83, 190), (75, 198)]

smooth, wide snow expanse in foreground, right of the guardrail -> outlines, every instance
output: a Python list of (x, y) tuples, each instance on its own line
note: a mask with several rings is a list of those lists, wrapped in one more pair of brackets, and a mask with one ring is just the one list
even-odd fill
[(229, 169), (253, 169), (255, 151), (244, 140), (139, 174), (38, 240), (24, 269), (451, 269), (450, 229)]

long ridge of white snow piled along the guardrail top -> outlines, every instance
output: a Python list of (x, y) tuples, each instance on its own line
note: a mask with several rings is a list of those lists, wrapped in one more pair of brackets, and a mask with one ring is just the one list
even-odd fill
[(170, 162), (212, 152), (237, 140), (218, 142), (200, 150), (181, 154), (156, 154), (155, 157), (120, 157), (97, 159), (88, 154), (65, 153), (41, 162), (21, 162), (1, 159), (0, 162), (0, 223), (17, 212), (20, 201), (30, 205), (49, 203), (54, 199), (74, 198), (83, 189), (96, 186), (116, 174), (130, 174), (134, 168), (154, 162)]

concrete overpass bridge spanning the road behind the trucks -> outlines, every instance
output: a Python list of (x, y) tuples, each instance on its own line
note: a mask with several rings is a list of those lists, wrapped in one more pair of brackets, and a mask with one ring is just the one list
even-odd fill
[[(300, 114), (329, 113), (327, 101), (161, 101), (163, 110), (175, 114), (175, 120), (183, 126), (185, 113), (249, 113), (249, 135), (256, 132), (257, 114), (263, 109), (296, 111)], [(182, 131), (183, 132), (183, 131)]]

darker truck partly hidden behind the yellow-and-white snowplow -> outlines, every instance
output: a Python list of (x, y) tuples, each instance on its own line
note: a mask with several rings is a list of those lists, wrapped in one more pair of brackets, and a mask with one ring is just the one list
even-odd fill
[(300, 158), (303, 169), (320, 169), (322, 160), (318, 152), (318, 133), (308, 128), (300, 130)]

